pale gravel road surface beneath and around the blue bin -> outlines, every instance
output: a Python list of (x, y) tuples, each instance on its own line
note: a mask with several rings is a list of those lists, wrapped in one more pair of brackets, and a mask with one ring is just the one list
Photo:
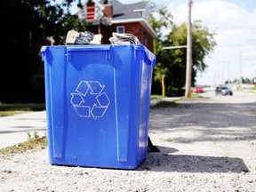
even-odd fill
[(160, 152), (136, 170), (52, 165), (36, 149), (0, 156), (0, 191), (256, 191), (256, 93), (203, 95), (150, 111)]

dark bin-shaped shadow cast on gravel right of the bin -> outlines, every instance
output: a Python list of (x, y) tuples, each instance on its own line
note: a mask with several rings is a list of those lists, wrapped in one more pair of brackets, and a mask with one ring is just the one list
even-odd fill
[[(159, 147), (158, 147), (159, 148)], [(243, 159), (228, 156), (174, 155), (176, 148), (160, 147), (160, 151), (148, 153), (138, 171), (155, 172), (249, 172)]]

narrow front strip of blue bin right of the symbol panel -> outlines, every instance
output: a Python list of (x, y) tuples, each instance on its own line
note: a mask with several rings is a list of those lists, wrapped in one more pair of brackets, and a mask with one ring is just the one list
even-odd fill
[[(114, 46), (113, 55), (115, 63), (115, 96), (116, 96), (116, 144), (117, 160), (121, 164), (131, 164), (136, 153), (134, 148), (130, 147), (133, 132), (130, 122), (132, 116), (130, 111), (131, 102), (134, 100), (132, 95), (132, 67), (134, 55), (132, 46)], [(133, 127), (136, 129), (136, 127)], [(134, 165), (133, 165), (134, 166)]]

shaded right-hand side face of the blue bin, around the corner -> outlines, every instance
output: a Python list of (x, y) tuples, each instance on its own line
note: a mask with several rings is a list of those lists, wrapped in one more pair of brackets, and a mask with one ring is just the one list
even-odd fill
[(150, 105), (150, 91), (148, 90), (148, 83), (151, 84), (152, 65), (146, 63), (144, 46), (135, 50), (135, 58), (132, 61), (132, 97), (130, 116), (130, 128), (136, 127), (131, 132), (131, 144), (133, 150), (136, 151), (134, 155), (137, 164), (145, 159), (148, 155), (148, 117)]

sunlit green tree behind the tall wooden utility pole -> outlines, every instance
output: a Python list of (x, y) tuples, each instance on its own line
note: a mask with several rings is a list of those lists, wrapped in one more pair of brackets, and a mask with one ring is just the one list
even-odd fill
[[(156, 6), (155, 6), (156, 9)], [(155, 84), (160, 84), (164, 76), (164, 84), (167, 96), (184, 95), (183, 87), (186, 81), (186, 48), (163, 49), (187, 44), (187, 25), (181, 23), (175, 25), (172, 22), (172, 15), (165, 7), (158, 7), (156, 14), (152, 14), (149, 23), (155, 29), (157, 39), (154, 44), (156, 53), (156, 68), (154, 74)], [(166, 34), (164, 36), (164, 34)], [(192, 24), (192, 84), (199, 73), (204, 72), (207, 64), (205, 57), (212, 52), (216, 42), (214, 33), (202, 25), (200, 20), (195, 20)], [(154, 92), (154, 84), (152, 86)]]

